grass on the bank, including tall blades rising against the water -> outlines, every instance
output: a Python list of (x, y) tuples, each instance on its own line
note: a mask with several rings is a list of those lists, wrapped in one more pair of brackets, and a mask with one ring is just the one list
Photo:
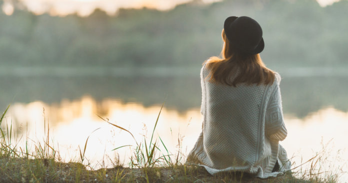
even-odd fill
[[(303, 164), (295, 167), (292, 173), (266, 180), (256, 179), (238, 172), (209, 175), (204, 168), (183, 164), (184, 156), (180, 151), (170, 154), (160, 139), (154, 139), (154, 132), (163, 105), (154, 123), (150, 141), (144, 137), (138, 142), (128, 130), (112, 124), (111, 126), (129, 133), (136, 146), (130, 156), (128, 167), (115, 161), (112, 168), (93, 170), (89, 164), (83, 165), (85, 151), (88, 148), (86, 138), (83, 149), (79, 149), (79, 160), (64, 163), (59, 152), (49, 142), (49, 123), (44, 123), (42, 142), (33, 143), (33, 150), (28, 150), (28, 139), (25, 147), (18, 147), (12, 142), (15, 136), (12, 125), (2, 125), (4, 111), (0, 118), (0, 182), (1, 183), (336, 183), (337, 176), (332, 173), (320, 172), (319, 164), (322, 154), (317, 154), (303, 164), (310, 164), (309, 170), (301, 170)], [(101, 117), (100, 117), (101, 118)], [(12, 123), (11, 123), (12, 124)], [(47, 125), (46, 125), (47, 124)], [(5, 128), (1, 128), (5, 127)], [(93, 132), (92, 132), (93, 133)], [(19, 138), (21, 139), (21, 137)], [(178, 139), (180, 146), (180, 140)], [(121, 146), (114, 148), (128, 147)], [(88, 168), (88, 169), (87, 169)], [(325, 174), (325, 176), (319, 176)]]

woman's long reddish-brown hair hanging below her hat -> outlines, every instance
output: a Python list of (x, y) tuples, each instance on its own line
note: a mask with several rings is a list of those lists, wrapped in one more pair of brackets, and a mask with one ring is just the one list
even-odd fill
[[(228, 41), (222, 29), (222, 39), (224, 41), (221, 57), (211, 57), (204, 63), (210, 70), (210, 82), (236, 86), (238, 83), (246, 84), (272, 84), (275, 78), (274, 72), (268, 69), (262, 62), (259, 54), (245, 55), (235, 50)], [(203, 64), (204, 64), (203, 63)], [(232, 79), (232, 76), (239, 73)]]

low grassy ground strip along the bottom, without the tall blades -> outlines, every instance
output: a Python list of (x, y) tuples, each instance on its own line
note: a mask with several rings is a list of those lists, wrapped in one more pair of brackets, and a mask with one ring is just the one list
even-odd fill
[(256, 179), (238, 173), (209, 175), (204, 168), (185, 165), (130, 169), (115, 165), (87, 170), (80, 163), (53, 159), (0, 158), (1, 183), (334, 183), (317, 176), (295, 178), (292, 174)]

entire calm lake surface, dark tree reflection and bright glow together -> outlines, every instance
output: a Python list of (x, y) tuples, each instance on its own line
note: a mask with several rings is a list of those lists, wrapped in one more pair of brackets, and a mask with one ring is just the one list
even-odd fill
[[(85, 156), (93, 168), (100, 168), (102, 161), (110, 167), (116, 157), (128, 165), (131, 147), (111, 150), (135, 143), (128, 133), (98, 115), (129, 130), (141, 142), (144, 136), (150, 137), (165, 101), (155, 136), (161, 137), (171, 153), (180, 150), (184, 159), (200, 133), (202, 118), (198, 109), (199, 77), (182, 73), (172, 76), (161, 71), (127, 77), (85, 76), (83, 72), (81, 76), (2, 75), (0, 107), (5, 109), (11, 103), (5, 121), (12, 121), (17, 139), (22, 137), (18, 140), (20, 146), (28, 141), (29, 148), (33, 148), (34, 143), (42, 142), (44, 127), (49, 123), (50, 145), (64, 161), (79, 160), (78, 146), (83, 148), (90, 136)], [(342, 72), (293, 77), (284, 72), (282, 77), (288, 137), (281, 144), (292, 158), (293, 167), (325, 150), (322, 171), (348, 172), (347, 76)], [(340, 180), (348, 180), (347, 174), (342, 174)]]

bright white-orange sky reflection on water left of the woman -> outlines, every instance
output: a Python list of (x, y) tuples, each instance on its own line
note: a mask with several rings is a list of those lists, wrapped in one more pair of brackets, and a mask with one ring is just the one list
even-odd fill
[[(118, 153), (121, 161), (127, 164), (129, 148), (123, 148), (117, 152), (111, 150), (123, 145), (135, 145), (135, 143), (129, 134), (112, 127), (97, 115), (129, 130), (140, 142), (143, 136), (152, 132), (159, 111), (160, 106), (143, 107), (140, 104), (123, 104), (111, 99), (96, 103), (90, 97), (83, 97), (81, 100), (63, 101), (59, 105), (49, 106), (42, 102), (17, 103), (11, 106), (6, 120), (7, 122), (12, 120), (14, 128), (20, 129), (24, 136), (28, 136), (28, 139), (33, 141), (43, 139), (44, 122), (48, 121), (51, 141), (55, 148), (59, 149), (60, 156), (65, 161), (78, 159), (77, 147), (83, 147), (90, 133), (100, 128), (88, 139), (86, 152), (87, 159), (95, 167), (100, 167), (98, 162), (103, 160), (104, 155), (113, 159), (115, 153)], [(183, 114), (163, 109), (155, 135), (158, 134), (169, 150), (174, 153), (177, 151), (178, 136), (181, 138), (185, 136), (182, 147), (191, 147), (199, 133), (197, 129), (201, 128), (199, 120), (200, 115), (197, 110), (189, 110)], [(188, 133), (190, 131), (192, 133)], [(19, 143), (23, 145), (25, 142)], [(186, 150), (183, 151), (185, 153)], [(110, 163), (109, 160), (104, 161), (106, 164)]]

